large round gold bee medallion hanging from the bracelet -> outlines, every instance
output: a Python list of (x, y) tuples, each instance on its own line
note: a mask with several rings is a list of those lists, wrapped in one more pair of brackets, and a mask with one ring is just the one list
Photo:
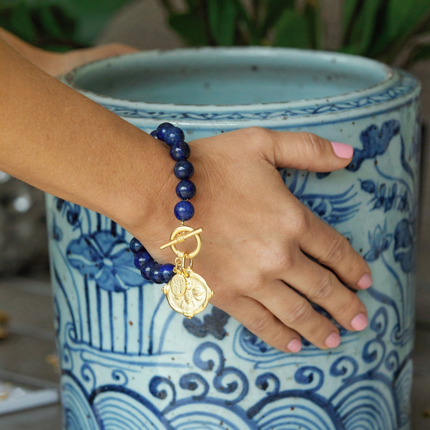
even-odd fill
[[(214, 292), (200, 275), (192, 270), (187, 271), (189, 273), (187, 278), (178, 274), (174, 275), (169, 283), (163, 287), (163, 292), (173, 310), (191, 318), (206, 308)], [(182, 279), (179, 281), (179, 278), (176, 283), (178, 286), (174, 287), (172, 281), (176, 276), (181, 276), (184, 279), (185, 289), (182, 288)], [(175, 294), (175, 291), (181, 292), (181, 294)]]

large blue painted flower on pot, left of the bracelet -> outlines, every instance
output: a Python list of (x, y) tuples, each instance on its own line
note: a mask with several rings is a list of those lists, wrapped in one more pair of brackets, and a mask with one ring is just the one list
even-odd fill
[(131, 255), (128, 243), (112, 237), (111, 231), (97, 231), (72, 240), (67, 247), (67, 259), (82, 276), (94, 279), (107, 291), (126, 291), (142, 284), (135, 267), (129, 264)]

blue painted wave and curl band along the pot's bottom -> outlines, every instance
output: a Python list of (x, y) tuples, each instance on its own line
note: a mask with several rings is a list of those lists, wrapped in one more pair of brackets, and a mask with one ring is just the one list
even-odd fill
[[(88, 389), (64, 370), (67, 428), (397, 430), (408, 421), (412, 365), (410, 356), (399, 362), (396, 349), (384, 343), (388, 326), (387, 310), (380, 307), (370, 322), (374, 337), (362, 349), (365, 368), (351, 356), (339, 356), (326, 370), (298, 365), (291, 381), (263, 371), (252, 376), (252, 382), (210, 341), (195, 348), (195, 371), (178, 380), (152, 376), (146, 396), (129, 387), (125, 372), (121, 383)], [(327, 378), (338, 380), (331, 392), (325, 387)], [(260, 394), (249, 405), (246, 396), (252, 386)]]

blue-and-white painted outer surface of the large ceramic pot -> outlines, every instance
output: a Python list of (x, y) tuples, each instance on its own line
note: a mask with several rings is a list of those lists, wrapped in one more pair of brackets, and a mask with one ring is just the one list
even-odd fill
[[(318, 70), (320, 61), (309, 67)], [(300, 353), (282, 353), (210, 304), (193, 319), (179, 315), (135, 269), (129, 233), (46, 196), (65, 429), (409, 428), (419, 84), (378, 67), (383, 82), (325, 103), (157, 106), (83, 91), (147, 132), (168, 119), (189, 140), (258, 125), (352, 144), (353, 161), (340, 172), (278, 170), (303, 204), (350, 239), (374, 284), (358, 293), (367, 329), (340, 328), (342, 343), (332, 351), (304, 341)], [(363, 66), (363, 73), (371, 71)]]

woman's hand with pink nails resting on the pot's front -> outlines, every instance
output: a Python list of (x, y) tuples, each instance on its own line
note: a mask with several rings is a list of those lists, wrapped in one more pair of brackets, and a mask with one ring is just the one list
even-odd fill
[[(192, 199), (196, 213), (186, 224), (203, 227), (193, 270), (215, 292), (210, 303), (283, 351), (298, 352), (300, 335), (320, 348), (340, 343), (336, 326), (295, 290), (346, 329), (364, 329), (365, 306), (341, 281), (368, 288), (368, 265), (344, 236), (291, 194), (276, 170), (341, 169), (350, 163), (353, 148), (310, 133), (258, 127), (198, 139), (190, 147), (197, 194)], [(177, 179), (170, 176), (160, 209), (130, 230), (160, 263), (173, 261), (170, 249), (160, 251), (160, 245), (178, 227), (175, 218), (166, 216), (178, 200)], [(143, 225), (144, 234), (138, 231)], [(195, 241), (188, 240), (194, 249)], [(178, 248), (187, 249), (188, 240)]]

